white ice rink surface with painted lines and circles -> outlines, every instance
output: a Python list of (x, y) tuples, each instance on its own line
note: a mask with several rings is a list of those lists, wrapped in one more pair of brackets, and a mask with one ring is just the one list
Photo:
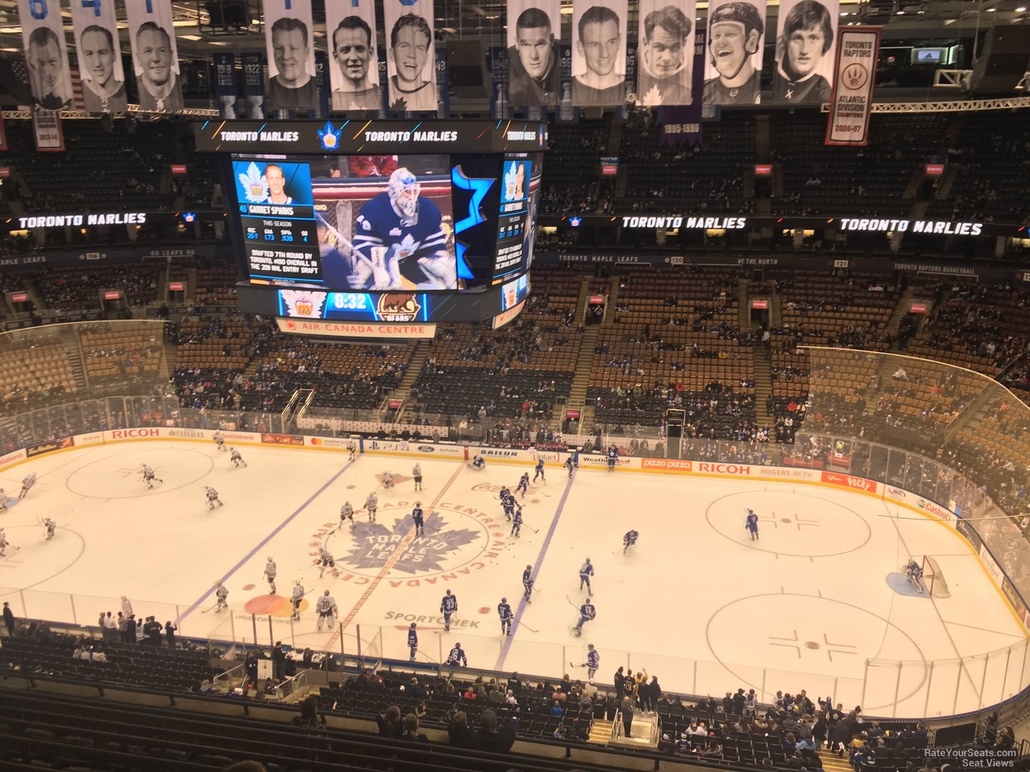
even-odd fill
[[(31, 471), (39, 483), (11, 502), (0, 524), (14, 550), (0, 560), (0, 595), (18, 617), (96, 624), (127, 595), (137, 617), (178, 620), (179, 634), (299, 647), (360, 651), (408, 659), (407, 629), (418, 623), (421, 662), (440, 662), (455, 642), (470, 667), (584, 678), (586, 644), (600, 653), (597, 680), (618, 666), (647, 669), (664, 690), (721, 697), (739, 687), (768, 698), (777, 690), (829, 696), (870, 715), (921, 716), (972, 710), (1027, 682), (1025, 633), (980, 560), (952, 528), (879, 498), (821, 486), (712, 480), (556, 465), (521, 498), (525, 525), (510, 535), (497, 501), (527, 465), (241, 447), (234, 468), (213, 445), (138, 442), (56, 453), (8, 468), (11, 495)], [(421, 462), (425, 489), (411, 467)], [(140, 481), (146, 462), (164, 480)], [(379, 488), (377, 522), (339, 525)], [(202, 485), (225, 506), (209, 512)], [(425, 536), (410, 518), (419, 500)], [(744, 529), (744, 507), (759, 514), (761, 538)], [(38, 518), (53, 517), (44, 540)], [(640, 531), (622, 554), (622, 535)], [(337, 568), (319, 578), (321, 545)], [(905, 592), (898, 567), (908, 556), (936, 558), (950, 598)], [(277, 594), (263, 580), (278, 565)], [(586, 557), (597, 618), (572, 634), (571, 604), (586, 597)], [(534, 566), (538, 593), (523, 600)], [(309, 592), (290, 620), (295, 578)], [(232, 613), (212, 610), (213, 587), (229, 589)], [(457, 597), (449, 632), (440, 610)], [(316, 630), (314, 600), (336, 599), (340, 622)], [(503, 637), (496, 606), (516, 612)], [(983, 655), (1014, 644), (1012, 654)], [(960, 658), (974, 658), (960, 661)]]

